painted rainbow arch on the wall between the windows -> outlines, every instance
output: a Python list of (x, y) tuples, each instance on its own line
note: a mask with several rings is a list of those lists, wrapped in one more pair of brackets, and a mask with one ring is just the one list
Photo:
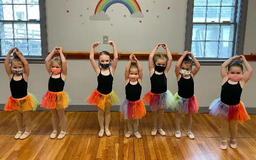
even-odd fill
[(99, 0), (98, 4), (96, 5), (94, 14), (100, 13), (101, 11), (106, 12), (108, 7), (115, 3), (124, 4), (128, 8), (130, 14), (138, 11), (141, 13), (141, 9), (137, 0)]

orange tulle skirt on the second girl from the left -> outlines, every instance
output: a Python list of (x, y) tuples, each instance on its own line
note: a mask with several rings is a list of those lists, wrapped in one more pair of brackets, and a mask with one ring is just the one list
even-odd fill
[(46, 109), (64, 109), (68, 107), (70, 102), (70, 98), (68, 94), (64, 91), (61, 92), (51, 92), (47, 91), (45, 95), (42, 97), (43, 101), (41, 103), (41, 107)]

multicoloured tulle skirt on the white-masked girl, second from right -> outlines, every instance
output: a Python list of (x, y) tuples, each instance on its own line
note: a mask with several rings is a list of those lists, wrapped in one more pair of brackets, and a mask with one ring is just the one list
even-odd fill
[(176, 93), (173, 96), (172, 110), (177, 110), (179, 113), (192, 114), (198, 110), (198, 103), (195, 95), (192, 98), (182, 98)]

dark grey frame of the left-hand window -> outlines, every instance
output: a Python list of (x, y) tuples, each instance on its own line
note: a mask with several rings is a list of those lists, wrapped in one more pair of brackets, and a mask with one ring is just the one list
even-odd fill
[[(13, 4), (9, 4), (13, 5)], [(27, 5), (27, 3), (26, 3)], [(48, 44), (47, 44), (47, 24), (46, 24), (46, 6), (45, 6), (45, 0), (38, 0), (39, 5), (39, 23), (36, 20), (27, 20), (27, 21), (19, 21), (19, 20), (0, 20), (0, 23), (37, 23), (40, 24), (40, 35), (41, 35), (41, 55), (24, 55), (24, 57), (28, 61), (32, 62), (41, 62), (42, 59), (46, 58), (47, 52), (48, 52)], [(27, 11), (28, 12), (28, 11)], [(28, 29), (28, 28), (27, 28)], [(14, 39), (14, 38), (13, 38)], [(27, 38), (29, 39), (29, 38)], [(6, 55), (1, 54), (1, 47), (0, 47), (0, 60), (3, 61), (6, 57)]]

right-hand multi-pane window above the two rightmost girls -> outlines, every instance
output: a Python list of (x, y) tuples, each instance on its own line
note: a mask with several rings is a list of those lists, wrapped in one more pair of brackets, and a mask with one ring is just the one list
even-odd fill
[(199, 59), (226, 59), (241, 54), (238, 51), (243, 49), (243, 39), (239, 37), (244, 36), (241, 34), (246, 22), (242, 20), (246, 15), (242, 7), (247, 9), (244, 1), (188, 0), (185, 49)]

